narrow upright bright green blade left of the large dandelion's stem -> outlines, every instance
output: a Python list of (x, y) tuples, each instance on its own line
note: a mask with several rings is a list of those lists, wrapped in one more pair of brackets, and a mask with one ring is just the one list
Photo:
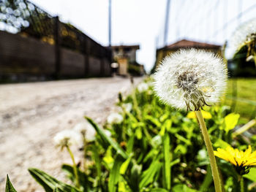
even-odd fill
[(163, 139), (163, 153), (164, 153), (164, 159), (165, 159), (165, 169), (164, 169), (164, 174), (165, 174), (165, 187), (167, 190), (170, 191), (170, 161), (172, 161), (172, 157), (170, 155), (170, 137), (168, 134), (165, 134)]

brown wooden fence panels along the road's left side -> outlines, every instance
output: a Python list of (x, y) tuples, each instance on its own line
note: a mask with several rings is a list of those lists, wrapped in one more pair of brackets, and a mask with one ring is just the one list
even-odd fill
[(110, 75), (111, 52), (84, 38), (84, 51), (0, 31), (0, 80), (27, 81)]

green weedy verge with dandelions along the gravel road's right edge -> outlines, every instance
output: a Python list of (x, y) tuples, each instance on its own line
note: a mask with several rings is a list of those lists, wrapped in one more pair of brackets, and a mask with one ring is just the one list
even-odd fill
[[(84, 158), (77, 164), (62, 166), (72, 185), (56, 180), (39, 169), (29, 169), (46, 192), (214, 191), (211, 167), (195, 112), (178, 111), (162, 104), (154, 96), (151, 81), (146, 81), (138, 85), (131, 95), (125, 98), (121, 93), (118, 95), (119, 110), (110, 114), (103, 127), (86, 117), (88, 125), (97, 134), (93, 139), (86, 139), (89, 132), (83, 131), (78, 148)], [(254, 83), (239, 80), (242, 88)], [(255, 136), (241, 137), (241, 131), (233, 134), (233, 129), (239, 125), (240, 115), (231, 112), (230, 107), (206, 107), (202, 113), (214, 150), (222, 148), (232, 153), (232, 149), (227, 147), (232, 145), (246, 150), (251, 145), (252, 151), (255, 151)], [(64, 153), (75, 143), (72, 142), (72, 134), (57, 139)], [(237, 159), (247, 159), (246, 162), (255, 164), (256, 157), (249, 156), (249, 153), (241, 157), (242, 153), (237, 155)], [(69, 151), (69, 154), (72, 152)], [(225, 191), (241, 191), (241, 186), (246, 191), (256, 191), (256, 168), (243, 166), (243, 160), (238, 160), (241, 163), (239, 166), (233, 165), (236, 159), (232, 155), (226, 157), (233, 164), (222, 160), (221, 150), (218, 156), (217, 164)], [(233, 156), (236, 157), (236, 154), (233, 153)], [(15, 191), (9, 179), (7, 188)]]

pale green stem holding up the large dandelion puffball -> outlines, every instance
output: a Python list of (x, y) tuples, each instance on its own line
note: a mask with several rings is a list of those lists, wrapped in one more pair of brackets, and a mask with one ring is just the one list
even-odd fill
[(203, 119), (203, 115), (202, 112), (199, 111), (195, 111), (195, 114), (197, 115), (197, 120), (199, 122), (202, 134), (203, 134), (203, 139), (205, 140), (206, 143), (206, 149), (208, 151), (208, 156), (210, 159), (210, 164), (211, 164), (211, 172), (214, 178), (214, 187), (215, 187), (215, 191), (216, 192), (222, 192), (222, 185), (219, 179), (219, 171), (218, 171), (218, 167), (217, 167), (217, 163), (216, 163), (216, 159), (214, 156), (214, 149), (211, 145), (211, 139), (208, 135), (208, 131), (206, 128), (206, 123)]

